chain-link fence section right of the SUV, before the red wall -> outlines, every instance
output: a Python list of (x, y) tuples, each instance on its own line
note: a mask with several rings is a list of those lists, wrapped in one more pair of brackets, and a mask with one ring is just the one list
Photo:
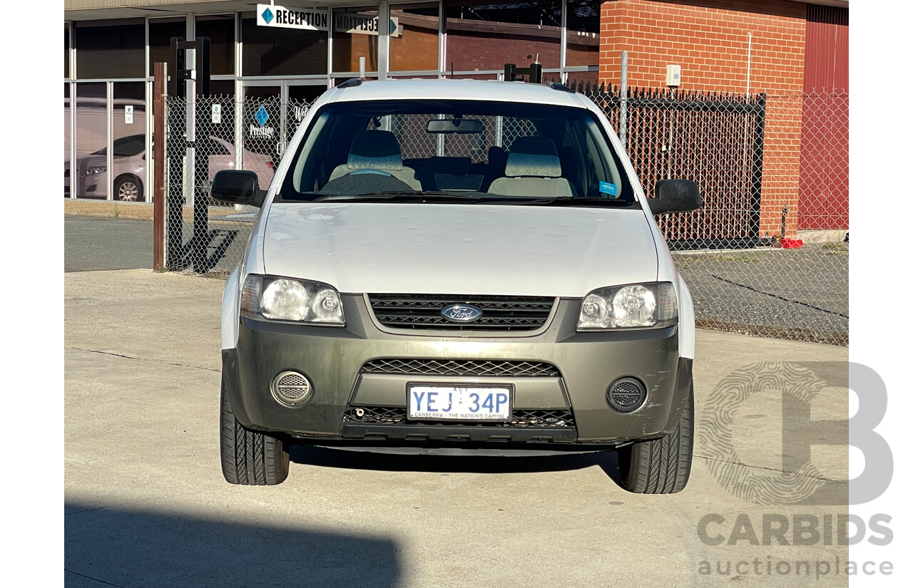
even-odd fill
[(849, 342), (849, 96), (577, 87), (605, 111), (647, 196), (698, 183), (699, 211), (659, 225), (698, 325)]

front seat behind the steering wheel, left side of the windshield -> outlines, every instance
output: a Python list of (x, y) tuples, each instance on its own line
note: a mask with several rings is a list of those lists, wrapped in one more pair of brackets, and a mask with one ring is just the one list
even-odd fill
[(415, 170), (403, 165), (399, 142), (389, 130), (358, 131), (352, 139), (349, 160), (336, 166), (330, 174), (330, 181), (360, 173), (393, 176), (412, 190), (422, 190), (422, 182), (415, 177)]

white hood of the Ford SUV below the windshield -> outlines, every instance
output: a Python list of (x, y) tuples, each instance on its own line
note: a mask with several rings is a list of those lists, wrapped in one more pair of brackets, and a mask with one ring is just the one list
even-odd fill
[(656, 280), (641, 210), (478, 204), (272, 204), (268, 274), (341, 293), (582, 297)]

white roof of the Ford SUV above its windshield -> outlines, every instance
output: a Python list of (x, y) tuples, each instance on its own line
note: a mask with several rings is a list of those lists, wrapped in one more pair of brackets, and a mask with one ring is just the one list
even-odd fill
[[(563, 88), (563, 87), (561, 87)], [(328, 93), (329, 94), (329, 93)], [(494, 79), (384, 79), (358, 80), (333, 88), (328, 99), (361, 100), (453, 99), (526, 102), (586, 108), (580, 95), (545, 84), (502, 82)]]

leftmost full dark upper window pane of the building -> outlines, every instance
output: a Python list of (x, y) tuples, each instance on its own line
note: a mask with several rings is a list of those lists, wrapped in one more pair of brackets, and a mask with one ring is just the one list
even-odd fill
[(146, 25), (142, 18), (76, 23), (76, 75), (80, 79), (146, 77)]

